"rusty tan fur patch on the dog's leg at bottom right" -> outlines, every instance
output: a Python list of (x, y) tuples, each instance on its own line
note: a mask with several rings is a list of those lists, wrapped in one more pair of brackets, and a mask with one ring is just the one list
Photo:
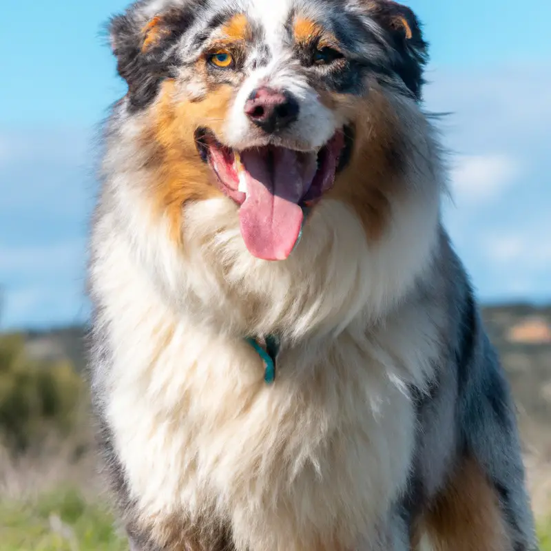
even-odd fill
[(421, 524), (435, 551), (512, 551), (495, 490), (473, 459), (457, 468)]

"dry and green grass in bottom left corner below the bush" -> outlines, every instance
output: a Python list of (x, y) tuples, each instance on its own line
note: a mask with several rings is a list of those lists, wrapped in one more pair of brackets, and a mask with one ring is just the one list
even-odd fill
[(125, 551), (94, 455), (52, 439), (41, 453), (0, 447), (0, 551)]

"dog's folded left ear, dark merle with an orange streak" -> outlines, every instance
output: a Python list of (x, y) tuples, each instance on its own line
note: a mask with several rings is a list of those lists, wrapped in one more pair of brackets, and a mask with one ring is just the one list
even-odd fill
[(182, 8), (147, 17), (132, 7), (109, 23), (111, 49), (117, 71), (128, 85), (129, 107), (140, 109), (155, 97), (160, 81), (169, 76), (167, 52), (189, 26), (189, 12)]

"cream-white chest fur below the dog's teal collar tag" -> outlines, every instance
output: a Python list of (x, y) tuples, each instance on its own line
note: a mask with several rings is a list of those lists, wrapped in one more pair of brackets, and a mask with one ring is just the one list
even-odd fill
[(259, 549), (267, 532), (342, 540), (404, 484), (412, 406), (350, 335), (283, 353), (273, 386), (245, 343), (185, 326), (136, 342), (117, 353), (107, 415), (147, 516), (216, 509)]

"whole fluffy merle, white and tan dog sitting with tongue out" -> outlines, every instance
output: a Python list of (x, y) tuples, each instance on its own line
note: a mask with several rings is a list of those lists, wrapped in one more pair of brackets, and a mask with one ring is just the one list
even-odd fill
[(536, 549), (412, 10), (143, 0), (110, 43), (90, 366), (132, 550)]

